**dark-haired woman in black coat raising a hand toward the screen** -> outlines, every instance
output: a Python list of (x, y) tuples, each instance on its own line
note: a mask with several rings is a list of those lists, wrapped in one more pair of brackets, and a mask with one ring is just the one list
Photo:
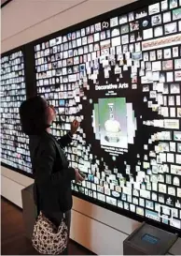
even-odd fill
[[(35, 176), (34, 195), (38, 210), (59, 226), (65, 213), (70, 232), (72, 193), (71, 181), (83, 181), (77, 169), (68, 166), (63, 147), (72, 142), (79, 126), (75, 120), (71, 131), (58, 141), (50, 134), (56, 112), (41, 97), (29, 98), (21, 103), (21, 127), (29, 135), (30, 157)], [(63, 254), (68, 254), (67, 249)]]

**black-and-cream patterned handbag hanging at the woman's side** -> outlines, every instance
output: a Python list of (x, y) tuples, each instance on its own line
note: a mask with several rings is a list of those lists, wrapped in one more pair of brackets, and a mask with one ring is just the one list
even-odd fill
[(41, 254), (61, 254), (68, 243), (68, 228), (64, 218), (57, 228), (40, 212), (35, 222), (32, 243), (33, 247)]

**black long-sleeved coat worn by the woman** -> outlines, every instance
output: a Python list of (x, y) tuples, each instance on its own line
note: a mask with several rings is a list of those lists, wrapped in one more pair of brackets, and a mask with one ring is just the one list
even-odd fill
[(76, 173), (68, 167), (63, 152), (63, 147), (71, 141), (70, 134), (58, 141), (48, 132), (41, 136), (30, 136), (35, 203), (38, 203), (41, 211), (66, 212), (72, 208), (71, 181), (75, 179)]

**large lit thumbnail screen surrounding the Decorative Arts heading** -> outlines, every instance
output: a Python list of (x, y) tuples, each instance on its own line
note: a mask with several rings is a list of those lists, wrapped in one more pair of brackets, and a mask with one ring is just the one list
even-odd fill
[(35, 45), (37, 94), (80, 122), (73, 190), (181, 229), (181, 1), (105, 19)]

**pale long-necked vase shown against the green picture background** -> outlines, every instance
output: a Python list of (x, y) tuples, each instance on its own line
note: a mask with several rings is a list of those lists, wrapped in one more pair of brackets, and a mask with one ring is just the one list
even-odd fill
[(109, 119), (104, 123), (105, 129), (105, 141), (108, 143), (118, 143), (120, 140), (120, 124), (115, 119), (114, 103), (108, 103), (109, 107)]

